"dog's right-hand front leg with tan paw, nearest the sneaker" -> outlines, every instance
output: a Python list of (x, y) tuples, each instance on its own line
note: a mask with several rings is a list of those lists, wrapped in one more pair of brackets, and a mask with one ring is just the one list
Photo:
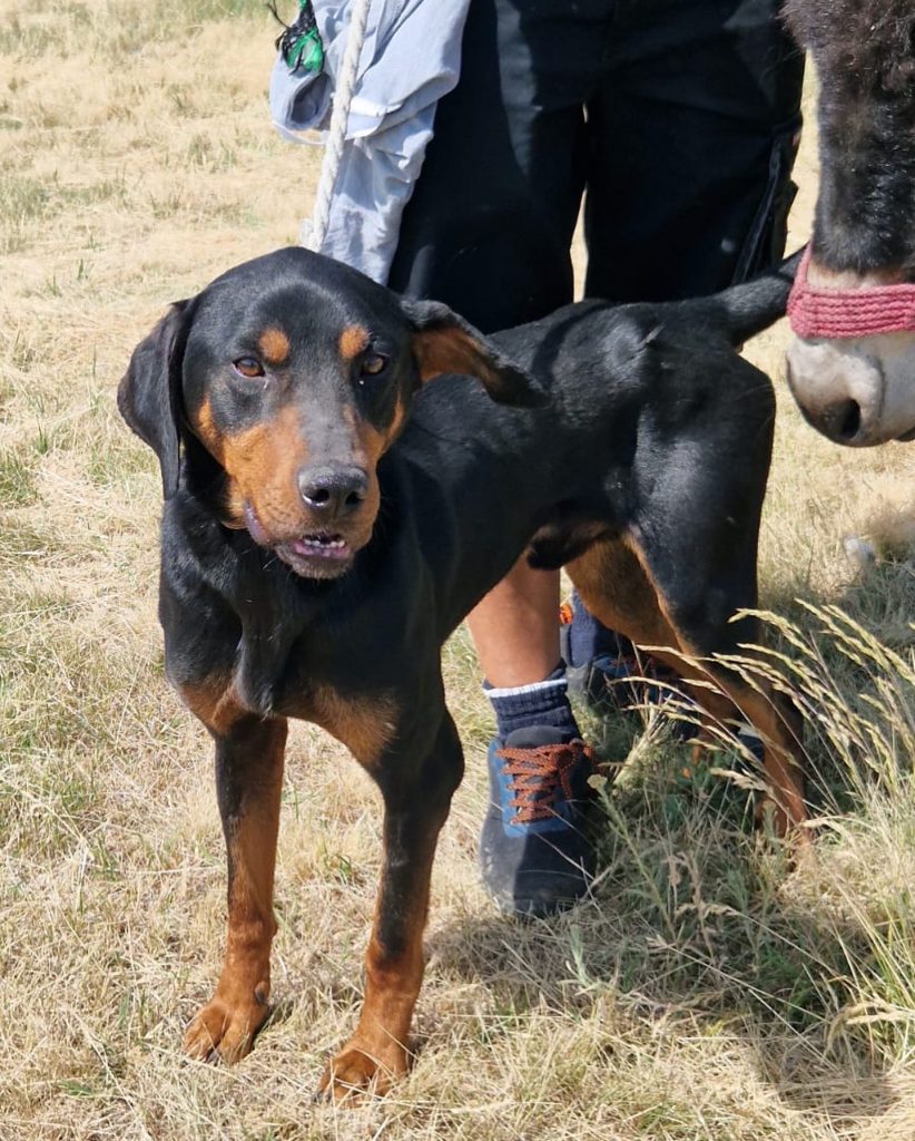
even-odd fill
[(463, 769), (460, 742), (444, 713), (422, 763), (398, 763), (392, 755), (369, 770), (384, 796), (384, 863), (359, 1025), (320, 1082), (320, 1090), (337, 1100), (365, 1091), (382, 1094), (407, 1071), (432, 861)]

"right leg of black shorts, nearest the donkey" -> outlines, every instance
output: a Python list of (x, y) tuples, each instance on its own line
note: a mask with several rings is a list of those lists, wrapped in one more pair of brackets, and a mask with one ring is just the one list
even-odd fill
[(711, 293), (778, 260), (803, 57), (777, 0), (620, 0), (588, 105), (586, 293)]

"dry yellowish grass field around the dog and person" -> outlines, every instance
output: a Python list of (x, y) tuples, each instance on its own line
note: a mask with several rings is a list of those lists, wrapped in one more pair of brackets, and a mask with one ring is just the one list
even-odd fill
[(275, 1013), (234, 1069), (182, 1058), (220, 963), (223, 850), (209, 738), (163, 679), (158, 475), (114, 390), (169, 301), (309, 211), (320, 154), (265, 106), (275, 34), (260, 0), (0, 0), (0, 1139), (912, 1141), (915, 447), (806, 428), (784, 327), (751, 346), (779, 395), (763, 605), (809, 714), (816, 857), (792, 871), (753, 832), (740, 758), (696, 767), (632, 713), (593, 725), (626, 760), (594, 898), (503, 920), (476, 879), (490, 730), (460, 633), (467, 779), (409, 1078), (356, 1110), (311, 1100), (360, 1000), (379, 814), (310, 727)]

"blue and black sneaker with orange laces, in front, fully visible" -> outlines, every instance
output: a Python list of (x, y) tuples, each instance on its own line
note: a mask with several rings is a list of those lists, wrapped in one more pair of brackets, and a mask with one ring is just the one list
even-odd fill
[(583, 742), (552, 727), (516, 729), (490, 744), (480, 867), (503, 912), (542, 917), (586, 895), (594, 877), (586, 835), (593, 771)]

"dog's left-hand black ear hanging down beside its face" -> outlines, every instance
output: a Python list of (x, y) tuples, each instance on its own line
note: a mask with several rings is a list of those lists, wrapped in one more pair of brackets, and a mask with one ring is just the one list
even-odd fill
[(191, 301), (174, 302), (133, 350), (117, 386), (121, 415), (158, 456), (165, 499), (178, 491), (181, 358), (191, 309)]

